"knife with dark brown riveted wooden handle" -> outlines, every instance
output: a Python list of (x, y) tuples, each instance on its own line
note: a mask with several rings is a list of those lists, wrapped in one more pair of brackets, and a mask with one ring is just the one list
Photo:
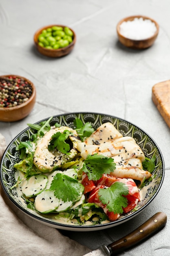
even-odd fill
[(84, 254), (84, 256), (110, 256), (115, 255), (121, 251), (136, 245), (142, 240), (148, 238), (149, 236), (155, 234), (157, 231), (162, 229), (167, 222), (166, 213), (158, 212), (155, 213), (149, 220), (144, 222), (137, 229), (132, 231), (130, 234), (120, 238), (119, 240), (111, 243), (110, 245), (102, 245), (101, 247)]

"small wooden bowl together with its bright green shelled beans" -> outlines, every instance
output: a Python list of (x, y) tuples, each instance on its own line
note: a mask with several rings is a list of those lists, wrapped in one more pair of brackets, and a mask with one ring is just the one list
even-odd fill
[(58, 58), (69, 54), (76, 42), (76, 34), (64, 25), (48, 25), (34, 34), (34, 44), (40, 54)]

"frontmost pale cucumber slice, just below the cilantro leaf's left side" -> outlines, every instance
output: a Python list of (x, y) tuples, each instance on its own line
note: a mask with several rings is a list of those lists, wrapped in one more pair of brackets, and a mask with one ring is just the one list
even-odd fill
[(35, 209), (40, 213), (50, 213), (57, 209), (60, 200), (55, 197), (53, 191), (46, 189), (35, 198)]

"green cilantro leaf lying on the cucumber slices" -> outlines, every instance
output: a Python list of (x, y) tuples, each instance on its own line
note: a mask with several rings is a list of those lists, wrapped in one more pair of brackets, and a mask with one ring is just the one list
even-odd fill
[(56, 198), (61, 198), (64, 202), (77, 202), (82, 196), (84, 186), (63, 173), (57, 173), (51, 182), (50, 190), (54, 191)]

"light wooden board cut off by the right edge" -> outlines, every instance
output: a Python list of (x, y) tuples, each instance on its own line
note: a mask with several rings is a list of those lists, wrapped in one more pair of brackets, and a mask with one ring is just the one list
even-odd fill
[(152, 87), (152, 101), (170, 128), (170, 80)]

